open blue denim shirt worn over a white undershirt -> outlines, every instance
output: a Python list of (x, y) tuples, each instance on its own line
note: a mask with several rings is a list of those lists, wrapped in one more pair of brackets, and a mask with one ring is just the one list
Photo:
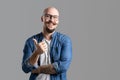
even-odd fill
[[(44, 37), (41, 32), (26, 40), (23, 49), (24, 55), (22, 60), (22, 70), (25, 73), (29, 73), (38, 67), (38, 65), (30, 65), (28, 62), (29, 58), (35, 50), (33, 38), (35, 38), (38, 42), (41, 42)], [(59, 32), (53, 33), (50, 43), (50, 58), (51, 64), (53, 64), (57, 72), (56, 74), (50, 75), (50, 80), (67, 80), (66, 73), (72, 59), (72, 43), (68, 36)], [(31, 73), (29, 80), (35, 80), (37, 76), (38, 74)]]

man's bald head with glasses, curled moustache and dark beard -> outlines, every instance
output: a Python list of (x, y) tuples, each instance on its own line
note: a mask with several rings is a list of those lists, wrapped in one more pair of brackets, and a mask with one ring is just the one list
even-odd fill
[(55, 7), (44, 9), (41, 21), (44, 23), (44, 32), (53, 33), (59, 23), (59, 11)]

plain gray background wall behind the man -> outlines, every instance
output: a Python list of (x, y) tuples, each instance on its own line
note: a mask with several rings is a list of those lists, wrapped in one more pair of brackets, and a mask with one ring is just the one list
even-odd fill
[(120, 80), (120, 0), (0, 0), (0, 80), (28, 80), (23, 46), (42, 31), (48, 6), (59, 9), (57, 30), (72, 39), (68, 80)]

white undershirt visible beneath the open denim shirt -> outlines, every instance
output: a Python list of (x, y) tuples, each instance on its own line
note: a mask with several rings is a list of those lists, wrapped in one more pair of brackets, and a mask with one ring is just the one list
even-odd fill
[[(43, 39), (43, 41), (45, 41), (45, 43), (47, 45), (47, 51), (40, 55), (40, 66), (51, 63), (51, 61), (50, 61), (50, 42), (51, 41), (46, 40), (45, 38)], [(41, 73), (36, 77), (36, 80), (50, 80), (50, 74)]]

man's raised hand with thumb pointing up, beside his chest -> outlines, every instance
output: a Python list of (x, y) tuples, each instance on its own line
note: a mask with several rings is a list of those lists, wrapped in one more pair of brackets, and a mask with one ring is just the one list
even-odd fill
[(42, 54), (45, 51), (47, 51), (47, 44), (44, 41), (42, 41), (40, 43), (38, 43), (36, 39), (33, 39), (33, 41), (34, 41), (34, 44), (36, 46), (37, 53)]

